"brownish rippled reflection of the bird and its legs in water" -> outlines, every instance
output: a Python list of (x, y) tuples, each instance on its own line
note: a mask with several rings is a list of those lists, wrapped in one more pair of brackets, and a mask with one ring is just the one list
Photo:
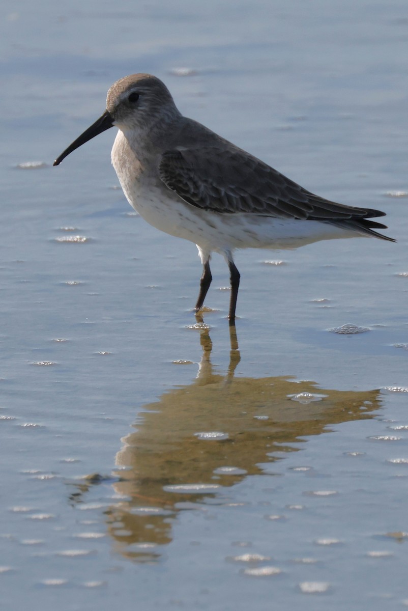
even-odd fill
[(202, 346), (197, 378), (146, 405), (116, 456), (114, 489), (123, 500), (107, 511), (108, 529), (116, 550), (134, 560), (161, 555), (178, 511), (230, 502), (231, 486), (262, 473), (262, 464), (277, 459), (274, 453), (282, 458), (304, 442), (301, 437), (372, 417), (379, 407), (377, 390), (320, 389), (291, 376), (235, 376), (240, 360), (235, 326), (228, 371), (215, 373), (202, 319), (197, 328)]

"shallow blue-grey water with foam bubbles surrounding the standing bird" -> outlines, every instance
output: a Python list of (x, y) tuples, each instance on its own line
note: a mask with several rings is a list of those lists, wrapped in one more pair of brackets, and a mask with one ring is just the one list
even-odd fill
[[(402, 1), (6, 3), (4, 609), (408, 605), (407, 34)], [(398, 243), (239, 253), (238, 337), (214, 258), (195, 320), (114, 133), (51, 167), (135, 71)]]

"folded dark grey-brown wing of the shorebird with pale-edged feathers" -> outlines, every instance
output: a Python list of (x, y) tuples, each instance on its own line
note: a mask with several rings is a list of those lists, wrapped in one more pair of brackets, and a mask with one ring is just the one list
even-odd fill
[(316, 196), (260, 159), (228, 145), (167, 150), (159, 163), (159, 176), (186, 202), (218, 213), (332, 222), (384, 214)]

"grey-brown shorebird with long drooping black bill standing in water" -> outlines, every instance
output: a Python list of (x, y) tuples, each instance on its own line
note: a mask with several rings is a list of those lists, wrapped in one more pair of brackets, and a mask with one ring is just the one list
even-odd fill
[(148, 74), (125, 76), (107, 92), (106, 111), (54, 161), (111, 127), (118, 133), (112, 164), (133, 208), (150, 225), (197, 245), (203, 265), (195, 311), (212, 276), (211, 254), (223, 255), (235, 321), (239, 248), (296, 248), (319, 240), (371, 236), (387, 229), (385, 213), (330, 202), (192, 119), (183, 117), (166, 85)]

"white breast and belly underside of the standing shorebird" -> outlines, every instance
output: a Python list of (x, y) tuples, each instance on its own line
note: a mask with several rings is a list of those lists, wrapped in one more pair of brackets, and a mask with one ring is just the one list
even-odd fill
[(145, 166), (137, 147), (129, 145), (122, 131), (118, 131), (111, 156), (120, 185), (134, 210), (156, 229), (189, 240), (204, 251), (292, 249), (318, 240), (359, 235), (320, 221), (250, 213), (221, 214), (195, 207), (162, 183), (151, 159)]

